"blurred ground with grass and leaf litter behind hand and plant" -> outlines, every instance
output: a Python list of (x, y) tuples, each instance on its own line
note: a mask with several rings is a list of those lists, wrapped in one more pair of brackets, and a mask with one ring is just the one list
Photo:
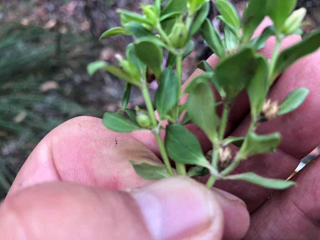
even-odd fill
[[(130, 36), (103, 39), (119, 26), (117, 8), (139, 11), (151, 0), (0, 0), (0, 199), (21, 165), (54, 127), (81, 115), (101, 117), (121, 106), (123, 82), (107, 73), (86, 73), (95, 60), (115, 62)], [(232, 1), (241, 15), (246, 1)], [(305, 33), (320, 26), (320, 0), (299, 0), (308, 10)], [(209, 17), (217, 10), (211, 6)], [(196, 49), (183, 62), (186, 79), (212, 52), (195, 36)], [(150, 85), (154, 92), (156, 86)], [(144, 108), (133, 88), (129, 108)], [(305, 159), (318, 155), (315, 151)]]

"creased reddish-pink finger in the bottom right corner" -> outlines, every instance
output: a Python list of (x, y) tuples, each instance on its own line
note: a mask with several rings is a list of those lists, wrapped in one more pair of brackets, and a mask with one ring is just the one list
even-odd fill
[(292, 180), (297, 188), (273, 193), (251, 215), (251, 226), (244, 240), (318, 240), (320, 236), (320, 157), (313, 160)]

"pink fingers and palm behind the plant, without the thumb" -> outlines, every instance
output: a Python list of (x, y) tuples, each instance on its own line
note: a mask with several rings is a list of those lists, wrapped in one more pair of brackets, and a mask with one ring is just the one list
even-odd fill
[[(255, 36), (269, 24), (265, 20)], [(286, 38), (282, 49), (299, 40), (299, 36)], [(268, 39), (261, 53), (270, 57), (273, 45), (274, 39)], [(217, 61), (214, 55), (208, 59), (213, 67)], [(235, 172), (253, 171), (267, 177), (286, 179), (299, 164), (300, 158), (320, 143), (318, 66), (320, 51), (297, 61), (277, 79), (269, 94), (272, 100), (281, 101), (288, 92), (298, 87), (307, 87), (310, 94), (296, 111), (259, 126), (259, 133), (281, 132), (283, 140), (277, 153), (249, 158)], [(193, 76), (199, 72), (197, 70)], [(249, 103), (245, 93), (242, 93), (233, 107), (226, 135), (244, 135), (250, 122), (248, 113)], [(211, 148), (196, 126), (189, 125), (188, 129), (196, 134), (204, 151)], [(101, 124), (101, 119), (79, 117), (60, 125), (39, 143), (19, 172), (8, 196), (47, 181), (76, 182), (108, 189), (144, 186), (149, 182), (134, 173), (128, 160), (159, 162), (158, 155), (153, 138), (144, 132), (114, 133)], [(301, 171), (296, 179), (298, 188), (283, 192), (236, 181), (218, 182), (216, 187), (239, 196), (247, 204), (252, 221), (244, 239), (316, 240), (320, 234), (319, 169), (318, 158)], [(239, 236), (235, 237), (236, 233), (228, 236), (226, 233), (234, 230), (237, 224), (241, 225), (246, 213), (238, 211), (239, 208), (234, 208), (237, 213), (230, 212), (232, 206), (223, 206), (223, 201), (220, 205), (225, 216), (225, 239), (240, 239), (244, 236), (245, 226), (239, 226), (244, 231)]]

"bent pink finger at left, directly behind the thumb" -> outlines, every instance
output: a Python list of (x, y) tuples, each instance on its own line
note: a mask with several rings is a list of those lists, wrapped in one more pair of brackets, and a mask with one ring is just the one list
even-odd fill
[(76, 117), (52, 130), (30, 154), (9, 195), (47, 181), (68, 181), (108, 189), (133, 188), (149, 181), (132, 161), (160, 160), (126, 133), (108, 130), (100, 118)]

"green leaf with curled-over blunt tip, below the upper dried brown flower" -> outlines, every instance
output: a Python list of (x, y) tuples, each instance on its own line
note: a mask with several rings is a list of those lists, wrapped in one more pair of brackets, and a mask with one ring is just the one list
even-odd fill
[(241, 158), (246, 158), (260, 153), (268, 153), (274, 151), (281, 141), (280, 133), (272, 133), (269, 135), (257, 135), (249, 132), (239, 151)]

